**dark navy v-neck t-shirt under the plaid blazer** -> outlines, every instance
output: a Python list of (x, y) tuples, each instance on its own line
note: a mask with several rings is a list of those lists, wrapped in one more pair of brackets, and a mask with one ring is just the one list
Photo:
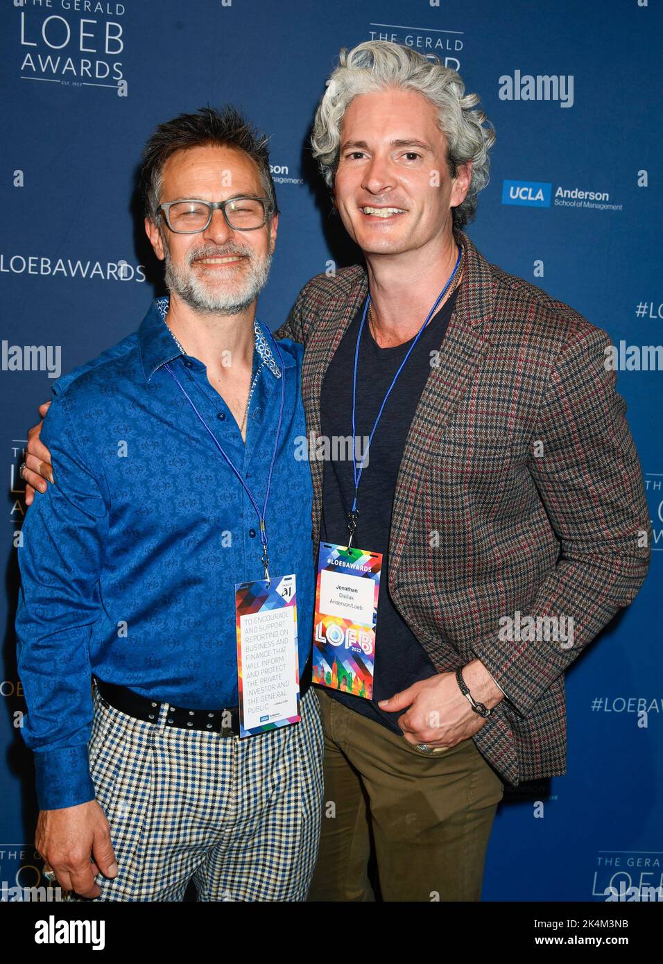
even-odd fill
[[(388, 592), (389, 534), (393, 511), (396, 479), (401, 465), (411, 420), (419, 403), (432, 363), (442, 344), (449, 320), (456, 304), (457, 291), (431, 319), (405, 363), (385, 404), (385, 410), (371, 442), (368, 458), (361, 473), (358, 489), (358, 523), (353, 545), (358, 549), (383, 553), (380, 578), (378, 620), (376, 625), (375, 679), (373, 699), (366, 700), (333, 690), (326, 691), (334, 699), (362, 713), (384, 726), (401, 733), (398, 717), (404, 712), (387, 713), (378, 700), (393, 696), (418, 680), (425, 680), (437, 672), (407, 623), (391, 602)], [(323, 382), (320, 415), (324, 437), (352, 436), (353, 372), (358, 331), (365, 303), (359, 308), (350, 327), (343, 335), (332, 358)], [(423, 319), (421, 319), (423, 322)], [(414, 338), (394, 348), (380, 348), (370, 333), (368, 317), (361, 334), (358, 355), (356, 435), (361, 439), (359, 457), (363, 454), (363, 440), (373, 428), (385, 394), (399, 365), (408, 354)], [(343, 450), (343, 446), (339, 446)], [(323, 500), (321, 539), (347, 546), (348, 512), (355, 494), (353, 463), (325, 462), (323, 470)], [(401, 561), (407, 570), (407, 556)]]

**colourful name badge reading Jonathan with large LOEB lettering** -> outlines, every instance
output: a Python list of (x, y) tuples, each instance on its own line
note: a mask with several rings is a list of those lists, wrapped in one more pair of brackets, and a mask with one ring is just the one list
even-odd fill
[(382, 552), (320, 543), (313, 683), (373, 697)]

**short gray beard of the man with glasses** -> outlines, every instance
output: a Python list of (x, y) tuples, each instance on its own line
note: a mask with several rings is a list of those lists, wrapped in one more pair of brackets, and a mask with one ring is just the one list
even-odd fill
[[(178, 269), (172, 263), (171, 253), (168, 245), (164, 244), (165, 252), (165, 281), (168, 290), (176, 294), (190, 308), (201, 314), (241, 314), (246, 311), (257, 298), (267, 284), (270, 267), (272, 265), (272, 255), (266, 254), (264, 258), (258, 260), (253, 254), (252, 249), (236, 247), (233, 251), (215, 252), (217, 256), (224, 254), (246, 254), (251, 258), (249, 275), (239, 289), (232, 292), (210, 291), (208, 286), (196, 277), (191, 270), (186, 268)], [(195, 260), (201, 253), (193, 251), (190, 255), (191, 260)], [(208, 252), (208, 256), (214, 256)], [(192, 256), (193, 255), (193, 256)]]

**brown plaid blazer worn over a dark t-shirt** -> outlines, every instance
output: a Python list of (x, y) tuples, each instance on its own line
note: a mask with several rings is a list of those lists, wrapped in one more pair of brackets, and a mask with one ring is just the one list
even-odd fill
[[(438, 672), (478, 656), (506, 693), (472, 738), (517, 785), (566, 772), (564, 672), (642, 585), (650, 518), (609, 336), (456, 237), (464, 280), (403, 452), (388, 589)], [(318, 275), (278, 330), (305, 345), (316, 435), (325, 372), (366, 292), (363, 267)], [(310, 468), (315, 544), (323, 469)], [(501, 641), (517, 611), (572, 616), (573, 646)]]

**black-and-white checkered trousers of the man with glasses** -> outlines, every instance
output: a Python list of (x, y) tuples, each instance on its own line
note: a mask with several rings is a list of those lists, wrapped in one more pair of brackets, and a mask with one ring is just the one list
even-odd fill
[(323, 734), (302, 720), (237, 736), (166, 727), (104, 706), (94, 690), (90, 765), (119, 873), (97, 900), (304, 900), (318, 853)]

